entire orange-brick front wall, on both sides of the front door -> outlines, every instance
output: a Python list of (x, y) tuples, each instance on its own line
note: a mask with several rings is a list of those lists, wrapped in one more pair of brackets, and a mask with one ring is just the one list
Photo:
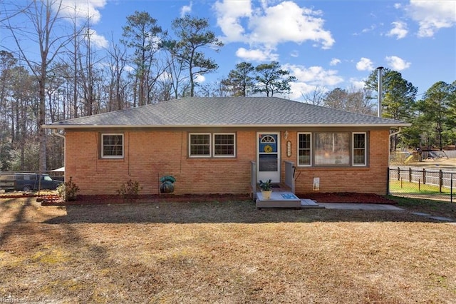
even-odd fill
[[(105, 132), (116, 133), (116, 132)], [(100, 158), (100, 132), (66, 132), (66, 178), (80, 193), (116, 194), (132, 179), (142, 186), (140, 193), (159, 193), (159, 178), (176, 178), (175, 194), (249, 193), (250, 161), (256, 160), (257, 132), (237, 131), (237, 158), (188, 158), (186, 131), (123, 131), (125, 157)], [(292, 155), (286, 156), (281, 141), (282, 161), (296, 163), (296, 132), (289, 131)], [(366, 168), (298, 168), (296, 193), (312, 192), (314, 177), (320, 178), (320, 192), (366, 192), (385, 194), (388, 167), (388, 131), (371, 131), (369, 166)], [(284, 176), (282, 163), (282, 178)]]

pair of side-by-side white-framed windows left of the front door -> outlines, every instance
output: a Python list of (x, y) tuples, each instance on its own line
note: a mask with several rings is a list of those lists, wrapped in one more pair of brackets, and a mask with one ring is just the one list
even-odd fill
[(195, 158), (224, 158), (236, 156), (234, 133), (190, 133), (189, 156)]

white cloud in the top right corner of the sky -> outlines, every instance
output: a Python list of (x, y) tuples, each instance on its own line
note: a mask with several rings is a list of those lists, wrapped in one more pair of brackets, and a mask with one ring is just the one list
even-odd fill
[(432, 37), (439, 29), (456, 25), (456, 1), (410, 0), (405, 10), (418, 22), (419, 37)]

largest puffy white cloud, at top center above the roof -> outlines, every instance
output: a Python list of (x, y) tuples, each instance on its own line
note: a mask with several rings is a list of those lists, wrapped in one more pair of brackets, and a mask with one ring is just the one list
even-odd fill
[(222, 29), (225, 42), (248, 42), (274, 48), (284, 42), (297, 44), (314, 41), (322, 49), (330, 49), (334, 39), (323, 29), (321, 11), (301, 8), (293, 1), (282, 1), (252, 9), (251, 1), (221, 0), (214, 4), (217, 24)]

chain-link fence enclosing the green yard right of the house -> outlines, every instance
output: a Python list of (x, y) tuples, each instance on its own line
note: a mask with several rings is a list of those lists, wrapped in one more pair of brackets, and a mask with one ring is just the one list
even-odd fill
[(456, 171), (391, 166), (388, 180), (388, 193), (393, 196), (455, 201)]

